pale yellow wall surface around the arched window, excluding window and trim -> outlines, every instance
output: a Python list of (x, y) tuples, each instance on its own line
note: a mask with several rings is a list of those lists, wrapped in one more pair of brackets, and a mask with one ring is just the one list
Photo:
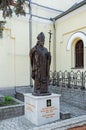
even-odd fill
[[(79, 10), (79, 11), (77, 11)], [(56, 70), (76, 70), (72, 67), (73, 51), (72, 46), (70, 50), (67, 50), (67, 44), (70, 37), (78, 32), (86, 33), (86, 7), (81, 7), (72, 13), (58, 19), (56, 21)], [(86, 55), (86, 48), (84, 47), (84, 53)], [(84, 68), (81, 71), (86, 70), (86, 60), (84, 56)]]

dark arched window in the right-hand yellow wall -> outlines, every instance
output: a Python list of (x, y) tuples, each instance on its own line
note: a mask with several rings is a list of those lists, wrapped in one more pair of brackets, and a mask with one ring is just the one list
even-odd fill
[(84, 49), (82, 40), (79, 40), (75, 45), (75, 67), (84, 67)]

